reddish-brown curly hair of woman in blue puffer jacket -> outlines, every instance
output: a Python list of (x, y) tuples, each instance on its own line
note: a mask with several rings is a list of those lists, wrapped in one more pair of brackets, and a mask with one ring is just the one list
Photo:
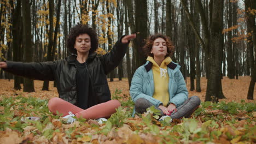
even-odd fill
[(174, 45), (172, 44), (172, 41), (164, 34), (158, 33), (151, 35), (147, 40), (146, 44), (143, 46), (143, 50), (145, 52), (145, 55), (153, 57), (153, 53), (151, 53), (152, 46), (154, 44), (154, 40), (157, 38), (162, 38), (166, 41), (167, 46), (167, 54), (165, 57), (172, 56), (174, 53)]

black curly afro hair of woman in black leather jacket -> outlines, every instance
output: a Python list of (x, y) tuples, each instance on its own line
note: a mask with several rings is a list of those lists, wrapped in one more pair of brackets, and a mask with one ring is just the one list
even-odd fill
[(80, 23), (71, 28), (71, 31), (69, 32), (69, 35), (67, 37), (67, 49), (69, 50), (69, 52), (77, 54), (77, 50), (74, 49), (74, 44), (75, 39), (80, 34), (88, 34), (90, 36), (91, 49), (89, 51), (89, 54), (95, 52), (98, 49), (98, 37), (96, 31), (88, 25), (82, 25)]

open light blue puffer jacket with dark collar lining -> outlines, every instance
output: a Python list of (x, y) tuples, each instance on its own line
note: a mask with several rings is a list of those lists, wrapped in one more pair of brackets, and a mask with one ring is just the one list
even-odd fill
[[(152, 62), (148, 61), (135, 71), (131, 81), (130, 94), (134, 102), (139, 98), (145, 98), (158, 107), (162, 102), (153, 98), (155, 88), (152, 65)], [(170, 77), (168, 83), (170, 100), (168, 104), (173, 103), (176, 107), (188, 99), (188, 89), (179, 68), (181, 66), (174, 62), (167, 65)]]

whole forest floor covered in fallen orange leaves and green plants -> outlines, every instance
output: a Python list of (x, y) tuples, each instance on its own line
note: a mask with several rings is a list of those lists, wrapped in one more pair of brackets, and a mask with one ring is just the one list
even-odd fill
[[(249, 76), (238, 80), (224, 77), (226, 99), (219, 103), (205, 100), (207, 80), (201, 78), (202, 103), (190, 118), (174, 119), (172, 123), (156, 121), (153, 109), (131, 117), (133, 103), (127, 79), (109, 82), (113, 99), (122, 103), (106, 123), (79, 118), (66, 124), (60, 116), (49, 112), (50, 98), (58, 97), (50, 82), (49, 91), (41, 91), (43, 81), (34, 81), (35, 91), (26, 93), (13, 89), (13, 80), (0, 79), (0, 143), (255, 143), (256, 142), (256, 86), (254, 100), (247, 100)], [(190, 79), (187, 79), (190, 89)], [(39, 121), (22, 120), (40, 117)], [(61, 121), (59, 121), (61, 119)], [(167, 119), (168, 120), (168, 119)]]

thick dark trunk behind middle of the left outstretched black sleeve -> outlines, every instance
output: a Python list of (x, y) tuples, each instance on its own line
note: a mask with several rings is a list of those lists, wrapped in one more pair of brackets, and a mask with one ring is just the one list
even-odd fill
[[(24, 31), (24, 45), (25, 45), (25, 62), (32, 62), (33, 49), (31, 44), (31, 16), (30, 16), (30, 1), (22, 0), (22, 20), (23, 20), (23, 31)], [(24, 79), (24, 92), (34, 92), (34, 81)]]

